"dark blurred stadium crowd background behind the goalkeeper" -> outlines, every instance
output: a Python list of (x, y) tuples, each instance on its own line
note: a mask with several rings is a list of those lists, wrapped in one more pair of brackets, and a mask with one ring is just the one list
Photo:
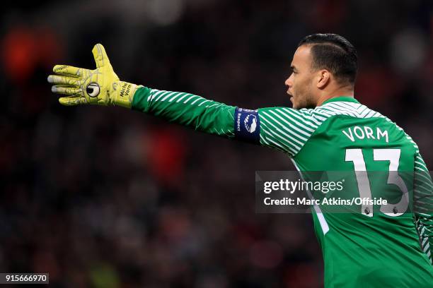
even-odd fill
[[(10, 1), (11, 2), (11, 1)], [(433, 167), (433, 2), (33, 1), (1, 13), (0, 271), (51, 287), (321, 287), (311, 215), (256, 214), (275, 150), (118, 107), (62, 107), (54, 64), (255, 109), (288, 106), (296, 44), (335, 32), (358, 49), (358, 100)], [(432, 169), (432, 168), (431, 168)]]

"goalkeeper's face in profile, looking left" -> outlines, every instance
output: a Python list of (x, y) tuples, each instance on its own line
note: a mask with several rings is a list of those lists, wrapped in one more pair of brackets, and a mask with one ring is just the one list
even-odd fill
[(316, 107), (313, 83), (314, 71), (311, 69), (310, 46), (302, 45), (296, 49), (291, 61), (291, 74), (284, 83), (287, 86), (287, 94), (294, 109)]

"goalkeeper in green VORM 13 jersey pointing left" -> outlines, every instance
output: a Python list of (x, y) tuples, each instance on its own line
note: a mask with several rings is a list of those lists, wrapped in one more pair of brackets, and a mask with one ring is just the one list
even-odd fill
[[(117, 77), (101, 44), (93, 55), (94, 70), (54, 66), (48, 82), (52, 92), (64, 95), (61, 104), (126, 107), (275, 148), (289, 155), (301, 174), (378, 167), (413, 172), (415, 181), (400, 181), (398, 187), (358, 184), (353, 197), (388, 198), (380, 210), (366, 203), (359, 205), (359, 213), (335, 214), (315, 205), (313, 222), (323, 251), (325, 287), (433, 287), (432, 180), (412, 138), (354, 99), (357, 52), (345, 38), (315, 34), (301, 40), (285, 82), (293, 108), (242, 109), (188, 92), (127, 83)], [(418, 202), (422, 207), (408, 213)]]

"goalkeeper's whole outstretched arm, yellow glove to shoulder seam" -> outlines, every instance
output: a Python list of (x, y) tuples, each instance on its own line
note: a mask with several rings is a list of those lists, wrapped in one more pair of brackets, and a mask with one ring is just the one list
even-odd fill
[(56, 65), (48, 77), (52, 92), (67, 106), (118, 105), (161, 116), (197, 131), (248, 141), (293, 156), (319, 125), (308, 109), (270, 107), (258, 110), (226, 105), (187, 92), (146, 88), (121, 81), (101, 44), (93, 47), (96, 69)]

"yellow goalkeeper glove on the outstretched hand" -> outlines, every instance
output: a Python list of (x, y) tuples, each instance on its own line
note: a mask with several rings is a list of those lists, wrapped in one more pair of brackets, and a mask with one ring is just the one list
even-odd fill
[(96, 44), (92, 52), (96, 62), (95, 70), (67, 65), (56, 65), (52, 69), (54, 75), (48, 76), (48, 82), (54, 84), (52, 92), (68, 95), (59, 98), (60, 104), (118, 105), (131, 108), (134, 92), (141, 86), (119, 80), (103, 45)]

